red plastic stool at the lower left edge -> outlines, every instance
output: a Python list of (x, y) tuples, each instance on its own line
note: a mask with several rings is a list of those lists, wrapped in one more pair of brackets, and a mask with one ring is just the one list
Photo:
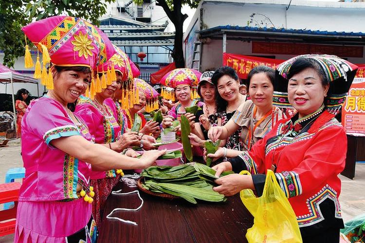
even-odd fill
[(14, 208), (0, 211), (0, 236), (15, 232), (19, 189), (19, 182), (0, 184), (0, 204), (14, 202)]

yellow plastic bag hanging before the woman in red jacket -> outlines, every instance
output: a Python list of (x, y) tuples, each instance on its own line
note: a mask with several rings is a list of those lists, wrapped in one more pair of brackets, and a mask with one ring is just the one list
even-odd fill
[(256, 197), (251, 189), (242, 190), (239, 195), (254, 216), (254, 226), (246, 234), (249, 243), (302, 243), (295, 213), (273, 171), (267, 171), (261, 197)]

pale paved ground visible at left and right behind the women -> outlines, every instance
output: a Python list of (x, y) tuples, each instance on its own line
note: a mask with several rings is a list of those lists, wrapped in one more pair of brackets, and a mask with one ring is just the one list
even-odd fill
[[(0, 148), (0, 183), (4, 183), (5, 174), (9, 168), (22, 167), (23, 162), (20, 156), (19, 139), (12, 140), (9, 147)], [(355, 179), (350, 180), (345, 176), (339, 175), (342, 181), (342, 191), (340, 203), (344, 221), (347, 222), (353, 217), (365, 213), (365, 164), (356, 165)], [(19, 180), (20, 181), (20, 180)], [(2, 207), (1, 207), (2, 208)], [(0, 237), (0, 243), (11, 243), (14, 235)]]

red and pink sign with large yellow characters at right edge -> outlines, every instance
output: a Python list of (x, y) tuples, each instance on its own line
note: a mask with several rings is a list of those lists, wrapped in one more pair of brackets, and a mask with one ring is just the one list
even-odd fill
[(365, 78), (355, 78), (342, 107), (342, 125), (347, 134), (365, 136)]

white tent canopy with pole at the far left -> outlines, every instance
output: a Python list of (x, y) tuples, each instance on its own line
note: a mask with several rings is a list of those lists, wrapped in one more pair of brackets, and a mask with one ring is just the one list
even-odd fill
[[(15, 110), (15, 99), (14, 99), (14, 83), (32, 83), (37, 85), (38, 90), (38, 80), (35, 78), (32, 78), (30, 76), (21, 74), (17, 71), (14, 71), (12, 69), (9, 69), (3, 65), (0, 64), (0, 83), (1, 84), (11, 84), (12, 88), (12, 99), (13, 99), (13, 111), (14, 114), (16, 114)], [(38, 91), (38, 97), (39, 97), (39, 91)], [(17, 129), (17, 122), (15, 122), (15, 129)]]

